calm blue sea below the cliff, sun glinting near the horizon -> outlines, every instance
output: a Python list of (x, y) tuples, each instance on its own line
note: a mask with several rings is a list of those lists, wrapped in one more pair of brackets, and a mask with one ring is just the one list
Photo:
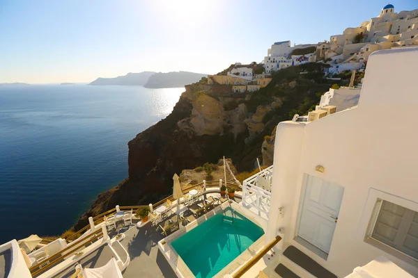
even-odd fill
[(127, 177), (127, 142), (184, 88), (0, 87), (0, 243), (57, 235)]

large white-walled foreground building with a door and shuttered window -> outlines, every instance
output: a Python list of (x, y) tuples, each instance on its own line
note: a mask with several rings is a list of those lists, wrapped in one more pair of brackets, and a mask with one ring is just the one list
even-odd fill
[(418, 276), (418, 131), (404, 120), (418, 106), (416, 63), (418, 47), (375, 52), (357, 107), (279, 123), (274, 165), (244, 182), (258, 197), (243, 191), (244, 206), (268, 220), (265, 242), (281, 237), (274, 263), (259, 264), (268, 277), (279, 264), (325, 277), (295, 253), (334, 277)]

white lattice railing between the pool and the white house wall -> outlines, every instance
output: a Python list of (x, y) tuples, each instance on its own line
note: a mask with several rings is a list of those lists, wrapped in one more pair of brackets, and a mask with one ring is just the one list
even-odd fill
[[(270, 166), (245, 179), (242, 184), (242, 206), (249, 208), (265, 220), (268, 220), (270, 214), (272, 172), (273, 166)], [(269, 185), (268, 188), (262, 188), (262, 185), (258, 184), (261, 179), (264, 180), (264, 185), (266, 183)]]

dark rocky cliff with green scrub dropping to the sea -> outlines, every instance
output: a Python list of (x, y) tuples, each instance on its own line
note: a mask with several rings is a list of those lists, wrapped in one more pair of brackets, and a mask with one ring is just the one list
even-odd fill
[[(265, 88), (250, 94), (225, 91), (206, 79), (187, 85), (173, 112), (128, 143), (129, 177), (99, 195), (77, 222), (84, 227), (90, 215), (121, 205), (155, 203), (171, 194), (173, 173), (203, 163), (232, 158), (238, 172), (254, 169), (264, 147), (270, 153), (270, 136), (278, 122), (304, 115), (330, 88), (321, 64), (305, 64), (280, 70)], [(300, 72), (309, 72), (300, 74)], [(265, 145), (268, 144), (268, 145)], [(265, 157), (272, 163), (272, 155)], [(270, 159), (270, 161), (268, 161)]]

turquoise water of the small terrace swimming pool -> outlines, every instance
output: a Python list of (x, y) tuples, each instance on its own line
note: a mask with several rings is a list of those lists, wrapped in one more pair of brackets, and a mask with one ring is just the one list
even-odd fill
[[(227, 214), (231, 215), (231, 211)], [(171, 245), (194, 276), (206, 278), (215, 276), (263, 234), (261, 227), (239, 213), (235, 213), (233, 224), (224, 221), (221, 214), (199, 224)]]

